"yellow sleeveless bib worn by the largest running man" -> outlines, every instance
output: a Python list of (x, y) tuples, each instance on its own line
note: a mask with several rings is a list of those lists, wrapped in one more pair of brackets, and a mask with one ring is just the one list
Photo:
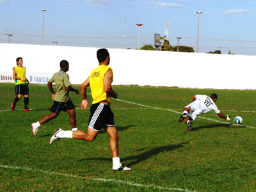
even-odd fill
[[(99, 67), (92, 70), (90, 73), (90, 87), (92, 92), (92, 98), (93, 102), (92, 104), (98, 103), (102, 100), (107, 100), (108, 102), (111, 102), (111, 97), (107, 95), (106, 92), (104, 92), (104, 76), (108, 70), (111, 70), (113, 73), (113, 70), (111, 67), (108, 67), (106, 65), (99, 65)], [(113, 81), (113, 78), (112, 78)]]

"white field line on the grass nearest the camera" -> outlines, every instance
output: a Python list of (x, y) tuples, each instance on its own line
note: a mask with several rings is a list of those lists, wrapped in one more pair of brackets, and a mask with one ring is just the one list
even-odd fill
[(31, 171), (31, 172), (41, 172), (41, 173), (46, 173), (49, 175), (60, 175), (64, 177), (71, 177), (75, 179), (88, 179), (88, 180), (99, 180), (103, 182), (114, 182), (118, 184), (127, 184), (129, 186), (133, 187), (140, 187), (140, 188), (153, 188), (153, 189), (164, 189), (168, 191), (185, 191), (185, 192), (198, 192), (198, 191), (191, 191), (188, 189), (180, 189), (180, 188), (169, 188), (169, 187), (161, 187), (161, 186), (155, 186), (154, 184), (138, 184), (130, 181), (125, 181), (125, 180), (115, 180), (115, 179), (103, 179), (103, 178), (93, 178), (93, 177), (83, 177), (79, 175), (72, 175), (72, 174), (67, 174), (67, 173), (58, 173), (58, 172), (49, 172), (49, 171), (44, 171), (44, 170), (38, 170), (38, 169), (32, 169), (32, 168), (26, 168), (26, 167), (19, 167), (19, 166), (10, 166), (10, 165), (3, 165), (0, 164), (0, 168), (7, 168), (7, 169), (12, 169), (12, 170), (26, 170), (26, 171)]

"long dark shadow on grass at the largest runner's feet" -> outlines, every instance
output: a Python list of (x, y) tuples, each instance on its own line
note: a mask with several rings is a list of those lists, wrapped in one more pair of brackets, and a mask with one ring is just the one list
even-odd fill
[[(141, 161), (146, 161), (148, 158), (156, 156), (161, 152), (168, 152), (168, 151), (172, 151), (177, 148), (183, 147), (184, 144), (188, 144), (188, 142), (179, 143), (178, 145), (164, 145), (161, 147), (154, 147), (136, 156), (124, 157), (122, 158), (122, 162), (131, 161), (131, 163), (127, 163), (127, 166), (133, 166), (134, 164), (138, 164)], [(145, 150), (145, 148), (138, 149), (137, 151), (141, 151), (141, 150)], [(109, 159), (109, 158), (97, 157), (97, 158), (81, 159), (78, 161), (88, 161), (88, 160), (112, 161), (112, 158)]]

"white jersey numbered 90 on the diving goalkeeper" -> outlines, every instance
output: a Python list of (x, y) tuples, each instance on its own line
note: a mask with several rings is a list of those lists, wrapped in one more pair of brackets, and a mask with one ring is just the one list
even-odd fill
[(211, 110), (214, 110), (215, 113), (220, 113), (211, 97), (208, 97), (207, 95), (196, 95), (196, 101), (200, 104), (200, 108), (202, 110), (201, 114), (207, 113)]

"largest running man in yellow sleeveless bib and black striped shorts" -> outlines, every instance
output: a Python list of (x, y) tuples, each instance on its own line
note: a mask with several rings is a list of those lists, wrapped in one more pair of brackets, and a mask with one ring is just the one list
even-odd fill
[(86, 88), (90, 85), (92, 91), (93, 102), (90, 108), (90, 118), (88, 131), (63, 131), (57, 129), (52, 135), (49, 144), (58, 141), (61, 138), (73, 138), (76, 140), (93, 141), (102, 127), (106, 130), (110, 139), (110, 149), (113, 156), (113, 170), (129, 171), (124, 164), (120, 163), (119, 148), (118, 148), (118, 132), (114, 122), (114, 114), (111, 111), (111, 97), (117, 98), (117, 93), (112, 90), (111, 83), (113, 81), (113, 71), (108, 67), (110, 57), (107, 49), (99, 49), (97, 51), (99, 67), (92, 70), (90, 77), (81, 84), (81, 95), (83, 101), (81, 108), (86, 109), (88, 100), (86, 97)]

